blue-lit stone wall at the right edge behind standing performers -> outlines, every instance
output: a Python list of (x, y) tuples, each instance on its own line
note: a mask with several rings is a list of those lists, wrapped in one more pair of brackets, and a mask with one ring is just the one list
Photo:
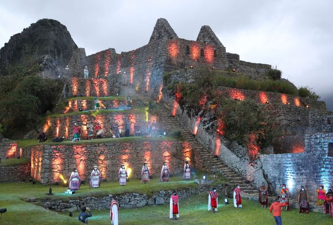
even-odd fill
[(260, 155), (263, 170), (276, 194), (286, 184), (295, 199), (304, 186), (315, 201), (320, 184), (327, 190), (333, 187), (333, 157), (328, 156), (328, 143), (333, 143), (333, 133), (305, 135), (305, 151), (301, 153)]

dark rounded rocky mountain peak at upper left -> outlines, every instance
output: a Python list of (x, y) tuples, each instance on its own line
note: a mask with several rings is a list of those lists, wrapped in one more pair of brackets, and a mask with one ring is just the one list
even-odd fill
[(0, 49), (0, 74), (10, 64), (22, 61), (38, 63), (41, 56), (51, 56), (58, 65), (65, 66), (77, 49), (67, 28), (54, 19), (40, 19), (10, 38)]

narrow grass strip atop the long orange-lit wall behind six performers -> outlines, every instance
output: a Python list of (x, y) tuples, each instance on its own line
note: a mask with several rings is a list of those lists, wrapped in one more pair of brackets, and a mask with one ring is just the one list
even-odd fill
[(72, 142), (70, 140), (65, 140), (62, 142), (52, 142), (47, 140), (42, 143), (38, 143), (37, 139), (28, 139), (28, 140), (14, 140), (17, 142), (20, 148), (25, 148), (28, 146), (34, 145), (81, 145), (81, 144), (100, 144), (100, 143), (111, 143), (111, 142), (141, 142), (141, 141), (177, 141), (178, 139), (170, 136), (164, 137), (121, 137), (121, 138), (102, 138), (102, 139), (93, 139), (93, 140), (83, 140), (79, 142)]

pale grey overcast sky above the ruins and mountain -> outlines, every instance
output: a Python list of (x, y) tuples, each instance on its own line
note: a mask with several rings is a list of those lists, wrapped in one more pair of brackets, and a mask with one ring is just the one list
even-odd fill
[(0, 46), (42, 18), (64, 24), (87, 55), (147, 44), (158, 18), (190, 40), (209, 25), (227, 52), (277, 65), (333, 110), (333, 0), (0, 0)]

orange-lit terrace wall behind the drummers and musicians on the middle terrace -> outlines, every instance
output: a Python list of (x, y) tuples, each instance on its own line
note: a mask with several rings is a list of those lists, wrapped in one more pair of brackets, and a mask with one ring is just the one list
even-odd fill
[[(158, 121), (156, 115), (148, 115), (149, 121)], [(108, 132), (104, 134), (104, 137), (112, 137), (111, 131), (114, 121), (118, 121), (119, 128), (125, 131), (126, 122), (130, 123), (130, 134), (134, 133), (134, 125), (139, 123), (141, 125), (141, 130), (144, 132), (146, 129), (146, 113), (140, 111), (119, 111), (107, 114), (99, 113), (94, 115), (66, 115), (57, 118), (46, 118), (46, 122), (43, 126), (43, 131), (47, 131), (48, 136), (52, 137), (62, 137), (67, 138), (73, 137), (73, 125), (77, 123), (81, 127), (81, 137), (88, 138), (88, 131), (86, 126), (91, 123), (94, 127), (97, 122), (101, 123), (102, 128), (105, 128)], [(121, 136), (125, 133), (121, 133)]]

